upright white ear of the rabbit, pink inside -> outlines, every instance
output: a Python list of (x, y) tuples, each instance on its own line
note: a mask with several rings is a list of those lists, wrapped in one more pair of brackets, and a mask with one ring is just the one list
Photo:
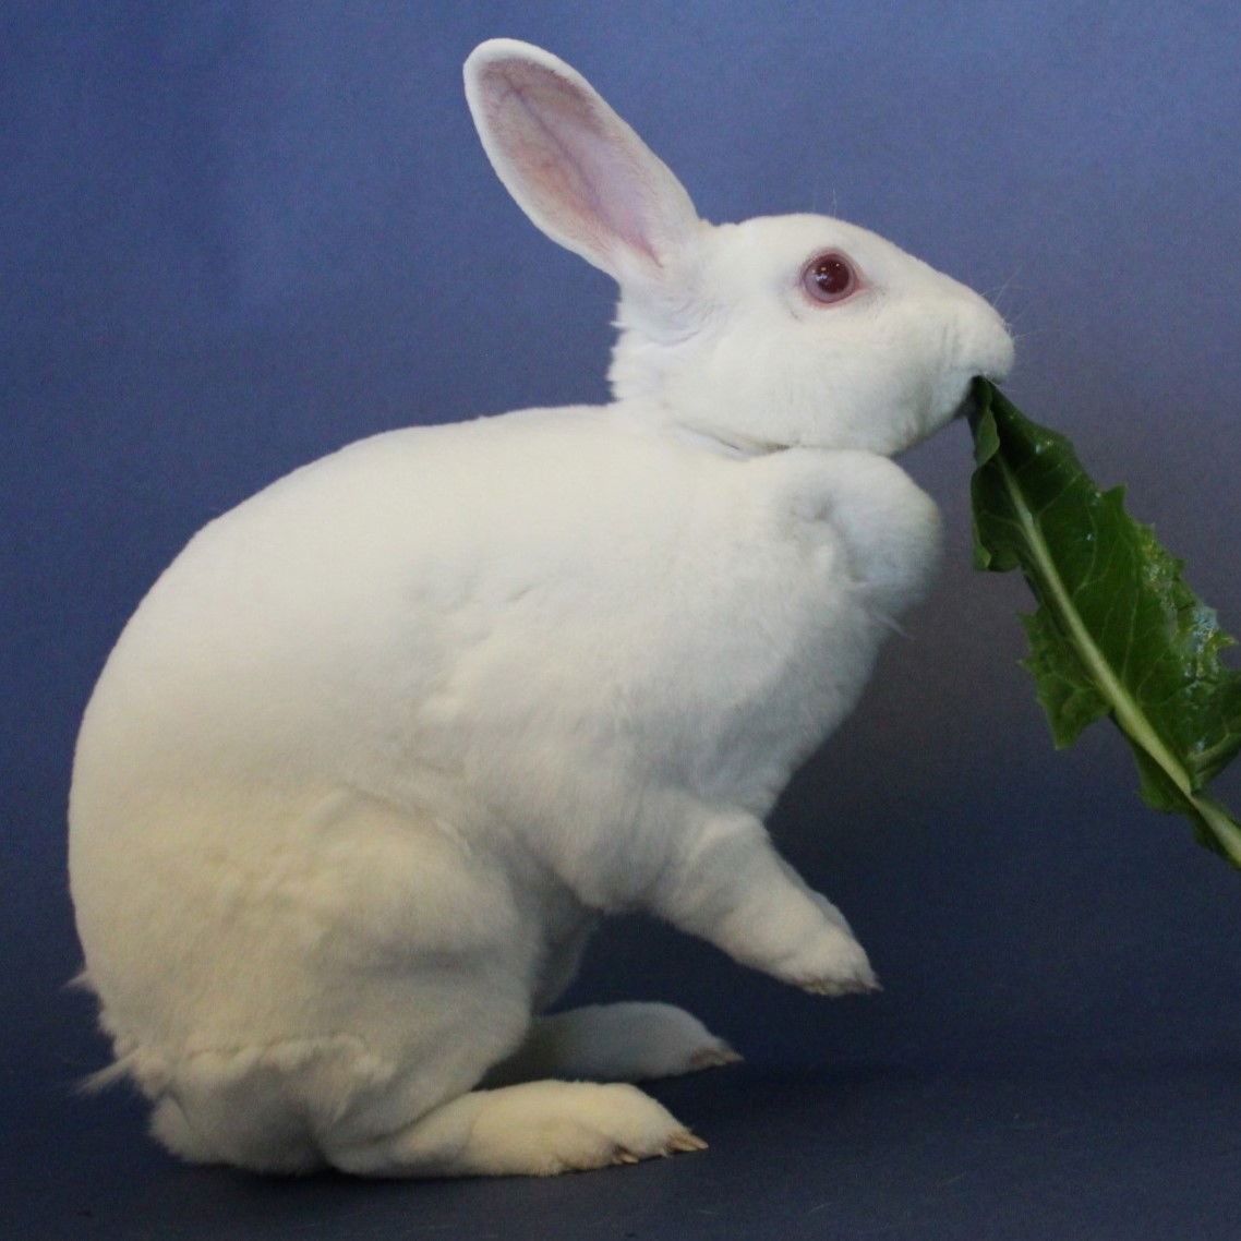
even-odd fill
[(652, 279), (699, 227), (680, 181), (576, 69), (494, 38), (465, 97), (496, 175), (552, 241), (620, 283)]

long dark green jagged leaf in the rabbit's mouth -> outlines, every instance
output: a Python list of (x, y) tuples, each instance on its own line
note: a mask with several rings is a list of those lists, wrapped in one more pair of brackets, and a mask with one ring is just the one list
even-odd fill
[(1057, 747), (1109, 717), (1133, 748), (1145, 802), (1186, 815), (1199, 841), (1241, 867), (1241, 824), (1206, 792), (1241, 750), (1232, 645), (1181, 563), (1100, 491), (1070, 442), (974, 386), (974, 567), (1020, 568), (1039, 602), (1023, 617)]

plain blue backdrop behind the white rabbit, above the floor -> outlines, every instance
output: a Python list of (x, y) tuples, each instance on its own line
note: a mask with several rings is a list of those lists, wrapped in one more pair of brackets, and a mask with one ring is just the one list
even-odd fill
[[(460, 88), (475, 42), (581, 68), (709, 218), (828, 211), (989, 294), (1014, 398), (1131, 484), (1241, 630), (1239, 12), (10, 6), (0, 987), (20, 1106), (102, 1064), (60, 990), (63, 808), (82, 707), (155, 575), (359, 436), (604, 397), (612, 289), (493, 176)], [(946, 514), (943, 580), (774, 820), (885, 993), (814, 1003), (623, 922), (578, 997), (684, 1003), (773, 1066), (1235, 1054), (1241, 875), (1140, 805), (1104, 727), (1052, 752), (1016, 666), (1024, 587), (969, 568), (965, 428), (907, 464)], [(1235, 773), (1220, 791), (1241, 803)]]

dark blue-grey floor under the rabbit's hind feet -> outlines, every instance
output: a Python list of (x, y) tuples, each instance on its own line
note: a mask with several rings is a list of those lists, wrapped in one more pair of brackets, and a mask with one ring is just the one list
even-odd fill
[(743, 1066), (655, 1092), (709, 1150), (550, 1180), (366, 1183), (179, 1167), (138, 1137), (138, 1112), (123, 1097), (84, 1104), (40, 1097), (36, 1086), (19, 1101), (30, 1124), (6, 1173), (5, 1235), (1237, 1236), (1236, 1062), (1020, 1075)]

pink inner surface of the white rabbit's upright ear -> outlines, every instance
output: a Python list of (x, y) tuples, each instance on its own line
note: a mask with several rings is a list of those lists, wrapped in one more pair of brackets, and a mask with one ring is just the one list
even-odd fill
[(599, 257), (618, 243), (659, 264), (658, 215), (645, 149), (611, 109), (539, 66), (506, 62), (486, 110), (508, 163), (510, 191), (540, 227)]

